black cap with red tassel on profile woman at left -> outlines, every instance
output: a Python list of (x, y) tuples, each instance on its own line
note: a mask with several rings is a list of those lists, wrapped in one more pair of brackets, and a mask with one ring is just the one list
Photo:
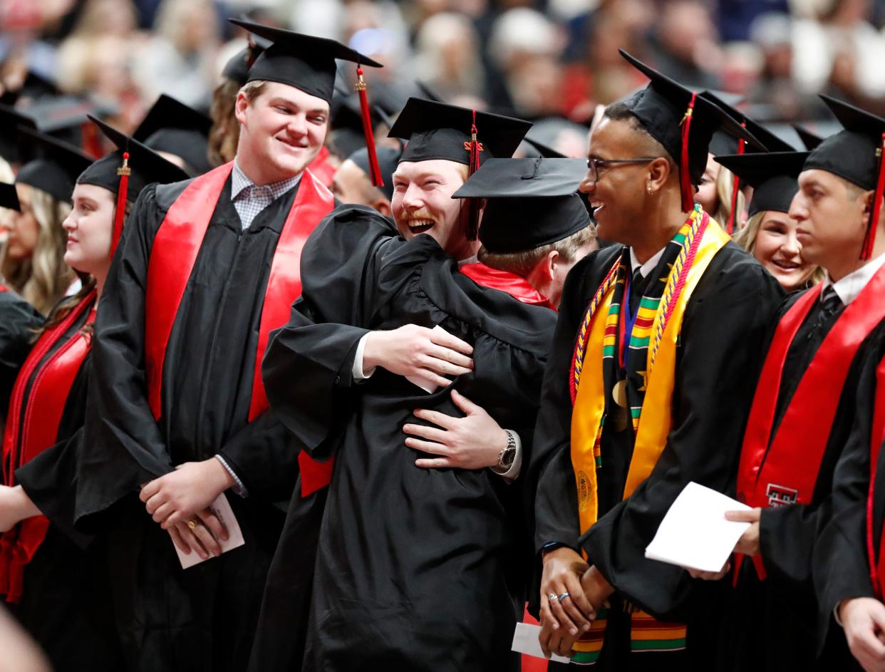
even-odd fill
[(117, 146), (115, 151), (92, 162), (77, 178), (78, 184), (103, 187), (117, 197), (111, 239), (111, 257), (117, 249), (126, 218), (126, 202), (135, 201), (142, 189), (153, 182), (168, 184), (187, 180), (179, 166), (161, 157), (134, 137), (121, 133), (95, 117), (89, 117), (101, 132)]

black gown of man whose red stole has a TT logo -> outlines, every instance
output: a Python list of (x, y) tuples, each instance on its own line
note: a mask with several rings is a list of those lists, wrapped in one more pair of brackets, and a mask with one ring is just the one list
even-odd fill
[[(820, 288), (808, 291), (820, 292)], [(779, 319), (802, 294), (788, 297)], [(819, 305), (812, 307), (798, 329), (784, 361), (773, 429), (781, 422), (805, 369), (844, 309), (821, 315)], [(852, 659), (843, 640), (835, 638), (827, 646), (819, 646), (822, 640), (816, 630), (818, 605), (812, 583), (812, 553), (832, 512), (833, 473), (856, 420), (855, 397), (862, 365), (871, 349), (881, 348), (883, 336), (885, 328), (874, 329), (851, 363), (820, 461), (811, 502), (762, 509), (759, 545), (767, 578), (760, 580), (750, 559), (743, 561), (735, 590), (728, 594), (718, 649), (718, 669), (735, 672), (749, 668), (822, 671), (850, 667)], [(821, 652), (823, 656), (819, 659)]]

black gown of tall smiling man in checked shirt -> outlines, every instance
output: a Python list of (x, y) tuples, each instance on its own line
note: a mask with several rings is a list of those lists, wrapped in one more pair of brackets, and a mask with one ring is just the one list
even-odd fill
[[(129, 668), (240, 672), (297, 477), (297, 452), (273, 413), (248, 421), (267, 277), (296, 189), (243, 232), (228, 178), (173, 323), (154, 421), (144, 376), (147, 268), (154, 236), (187, 184), (142, 191), (114, 258), (96, 321), (74, 517), (86, 528), (104, 518), (110, 528)], [(245, 545), (182, 570), (171, 538), (138, 500), (139, 485), (216, 454), (249, 492), (227, 493)]]

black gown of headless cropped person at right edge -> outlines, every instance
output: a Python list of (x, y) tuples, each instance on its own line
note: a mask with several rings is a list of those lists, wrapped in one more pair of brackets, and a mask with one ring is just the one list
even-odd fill
[[(885, 322), (873, 330), (851, 364), (855, 381), (854, 394), (845, 386), (839, 413), (850, 415), (852, 425), (845, 439), (845, 447), (835, 465), (833, 474), (831, 514), (814, 545), (812, 579), (817, 593), (819, 650), (836, 651), (847, 648), (842, 628), (835, 624), (833, 611), (843, 600), (874, 598), (870, 579), (870, 563), (866, 545), (866, 507), (870, 486), (870, 444), (873, 424), (873, 404), (876, 395), (876, 367), (885, 357)], [(881, 394), (881, 390), (878, 390)], [(843, 407), (844, 405), (844, 407)], [(879, 561), (879, 540), (885, 518), (885, 460), (880, 452), (876, 464), (873, 490), (873, 538), (875, 557)], [(827, 648), (823, 643), (826, 642)], [(842, 669), (859, 669), (858, 662), (850, 660)]]

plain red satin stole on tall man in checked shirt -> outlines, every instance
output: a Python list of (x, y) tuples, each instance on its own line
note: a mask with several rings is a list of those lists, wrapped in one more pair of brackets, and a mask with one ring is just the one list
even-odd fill
[[(148, 262), (148, 283), (144, 308), (144, 354), (148, 402), (154, 419), (162, 411), (163, 363), (166, 346), (181, 298), (196, 263), (212, 212), (218, 204), (233, 162), (197, 177), (181, 192), (166, 212), (154, 238)], [(265, 301), (258, 328), (258, 350), (252, 375), (249, 421), (268, 408), (261, 360), (270, 332), (289, 321), (292, 303), (301, 295), (301, 251), (319, 221), (335, 207), (335, 199), (310, 170), (304, 170), (295, 201), (283, 224), (273, 252), (267, 278)], [(317, 462), (300, 452), (302, 496), (307, 497), (326, 485), (332, 477), (333, 460)]]

